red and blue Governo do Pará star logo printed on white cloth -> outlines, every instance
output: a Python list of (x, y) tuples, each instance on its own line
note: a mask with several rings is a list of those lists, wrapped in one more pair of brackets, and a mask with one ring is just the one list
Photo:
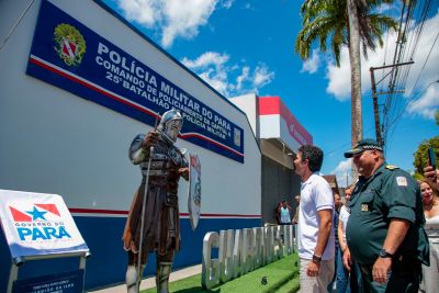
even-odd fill
[(61, 215), (53, 203), (34, 203), (27, 207), (9, 205), (21, 241), (70, 239)]

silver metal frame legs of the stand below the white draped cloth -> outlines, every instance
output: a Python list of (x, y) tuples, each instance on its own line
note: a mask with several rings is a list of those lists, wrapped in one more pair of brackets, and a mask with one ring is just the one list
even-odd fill
[[(66, 252), (66, 253), (57, 253), (57, 255), (46, 255), (46, 256), (29, 256), (29, 257), (15, 257), (12, 259), (11, 269), (9, 271), (9, 281), (8, 281), (8, 291), (7, 293), (12, 293), (13, 283), (18, 280), (19, 269), (26, 261), (32, 260), (47, 260), (54, 258), (70, 258), (70, 257), (79, 257), (79, 270), (86, 272), (86, 261), (91, 257), (89, 251), (75, 251), (75, 252)], [(86, 278), (86, 274), (83, 274)], [(83, 280), (82, 280), (83, 282)]]

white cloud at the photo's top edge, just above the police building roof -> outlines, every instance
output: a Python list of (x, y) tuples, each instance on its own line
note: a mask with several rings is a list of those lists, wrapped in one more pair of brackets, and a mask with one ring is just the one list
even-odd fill
[[(192, 38), (207, 23), (218, 0), (119, 0), (130, 20), (162, 32), (161, 45), (169, 47), (176, 37)], [(232, 0), (222, 3), (230, 8)]]

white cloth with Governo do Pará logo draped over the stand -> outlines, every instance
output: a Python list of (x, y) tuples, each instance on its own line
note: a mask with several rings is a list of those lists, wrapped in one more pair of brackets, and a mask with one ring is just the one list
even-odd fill
[(0, 222), (12, 258), (89, 250), (57, 194), (0, 189)]

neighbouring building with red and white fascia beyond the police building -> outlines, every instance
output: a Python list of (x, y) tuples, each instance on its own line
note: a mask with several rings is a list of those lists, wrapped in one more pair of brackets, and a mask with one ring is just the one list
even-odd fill
[(294, 172), (293, 161), (302, 145), (313, 145), (313, 136), (280, 97), (246, 94), (230, 100), (246, 112), (260, 145), (262, 222), (275, 224), (279, 202), (286, 200), (295, 206), (301, 179)]

